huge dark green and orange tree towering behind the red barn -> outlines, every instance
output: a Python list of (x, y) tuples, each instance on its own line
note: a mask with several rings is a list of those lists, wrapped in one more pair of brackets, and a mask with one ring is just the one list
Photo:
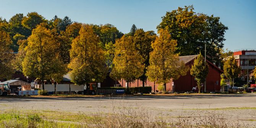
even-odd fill
[(207, 47), (207, 60), (221, 66), (220, 50), (224, 47), (224, 34), (228, 29), (219, 21), (219, 17), (195, 13), (193, 6), (185, 6), (162, 17), (157, 29), (167, 29), (172, 38), (177, 40), (177, 51), (181, 56), (204, 53)]

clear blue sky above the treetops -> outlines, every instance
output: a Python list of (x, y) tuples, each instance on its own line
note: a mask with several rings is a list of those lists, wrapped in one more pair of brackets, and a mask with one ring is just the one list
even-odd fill
[(81, 23), (110, 23), (123, 33), (132, 24), (156, 32), (166, 11), (188, 5), (196, 13), (219, 16), (228, 26), (225, 49), (256, 49), (256, 0), (0, 0), (0, 17), (9, 20), (16, 13), (36, 11), (46, 19), (57, 15)]

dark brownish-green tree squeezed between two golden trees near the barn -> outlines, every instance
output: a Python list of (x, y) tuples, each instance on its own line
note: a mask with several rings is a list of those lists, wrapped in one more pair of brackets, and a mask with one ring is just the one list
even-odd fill
[(147, 80), (146, 69), (149, 66), (149, 53), (153, 50), (151, 47), (151, 43), (156, 39), (156, 34), (154, 31), (144, 32), (143, 29), (136, 30), (134, 34), (134, 44), (136, 50), (139, 54), (144, 58), (144, 70), (143, 74), (139, 77), (142, 81), (143, 87), (145, 86), (145, 81)]

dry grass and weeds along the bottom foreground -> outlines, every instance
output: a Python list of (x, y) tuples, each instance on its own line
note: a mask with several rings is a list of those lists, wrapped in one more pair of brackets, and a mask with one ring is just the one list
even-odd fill
[(242, 128), (237, 120), (198, 110), (178, 117), (151, 115), (141, 107), (113, 107), (109, 113), (65, 113), (15, 110), (0, 113), (1, 128)]

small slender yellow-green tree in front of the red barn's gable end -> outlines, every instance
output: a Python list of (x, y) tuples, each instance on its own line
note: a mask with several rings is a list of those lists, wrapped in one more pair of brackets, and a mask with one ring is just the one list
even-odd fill
[(198, 87), (198, 92), (201, 92), (201, 84), (206, 80), (206, 76), (209, 72), (209, 66), (204, 62), (204, 57), (199, 53), (198, 57), (194, 59), (194, 64), (190, 68), (190, 74), (196, 79), (196, 84)]

